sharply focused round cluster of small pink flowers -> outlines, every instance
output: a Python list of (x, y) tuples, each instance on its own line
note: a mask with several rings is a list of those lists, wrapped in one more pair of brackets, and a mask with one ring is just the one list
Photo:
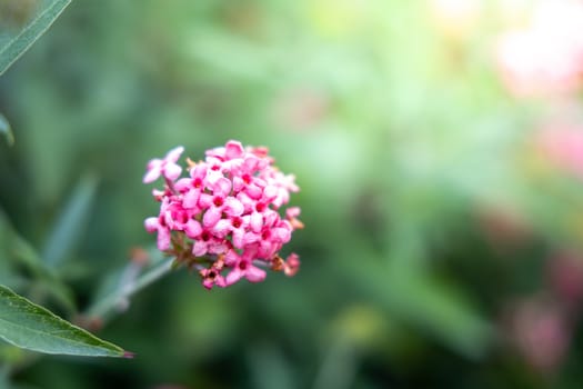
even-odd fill
[(180, 178), (177, 163), (184, 151), (177, 147), (148, 163), (144, 183), (164, 180), (154, 189), (160, 213), (145, 219), (149, 232), (158, 232), (158, 248), (175, 257), (178, 265), (194, 268), (202, 285), (227, 287), (242, 278), (259, 282), (268, 267), (293, 276), (299, 257), (279, 256), (293, 230), (303, 228), (300, 208), (279, 210), (299, 191), (293, 176), (273, 166), (267, 148), (243, 148), (238, 141), (207, 151), (204, 161), (188, 159), (190, 177)]

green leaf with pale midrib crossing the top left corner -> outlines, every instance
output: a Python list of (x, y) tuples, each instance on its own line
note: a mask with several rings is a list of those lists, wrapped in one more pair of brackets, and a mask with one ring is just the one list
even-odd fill
[(71, 0), (42, 1), (33, 17), (18, 32), (12, 34), (0, 31), (0, 76), (47, 31), (70, 2)]

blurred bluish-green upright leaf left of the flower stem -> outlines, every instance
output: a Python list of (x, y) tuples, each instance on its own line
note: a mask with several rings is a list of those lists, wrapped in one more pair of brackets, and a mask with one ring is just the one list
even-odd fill
[(42, 251), (47, 265), (59, 265), (74, 249), (93, 206), (97, 181), (94, 176), (87, 174), (73, 189)]

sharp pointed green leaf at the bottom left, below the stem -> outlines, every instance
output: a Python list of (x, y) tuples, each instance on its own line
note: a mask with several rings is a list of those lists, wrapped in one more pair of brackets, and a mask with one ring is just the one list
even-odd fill
[(0, 338), (17, 347), (44, 353), (132, 357), (132, 353), (71, 325), (3, 286), (0, 286)]

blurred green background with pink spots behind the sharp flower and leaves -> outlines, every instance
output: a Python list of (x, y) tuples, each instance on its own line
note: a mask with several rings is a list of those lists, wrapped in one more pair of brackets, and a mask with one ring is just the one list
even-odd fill
[[(582, 27), (577, 0), (73, 1), (0, 77), (0, 278), (137, 358), (0, 363), (21, 388), (580, 388)], [(296, 176), (300, 272), (177, 271), (88, 323), (154, 246), (147, 161), (229, 139)]]

